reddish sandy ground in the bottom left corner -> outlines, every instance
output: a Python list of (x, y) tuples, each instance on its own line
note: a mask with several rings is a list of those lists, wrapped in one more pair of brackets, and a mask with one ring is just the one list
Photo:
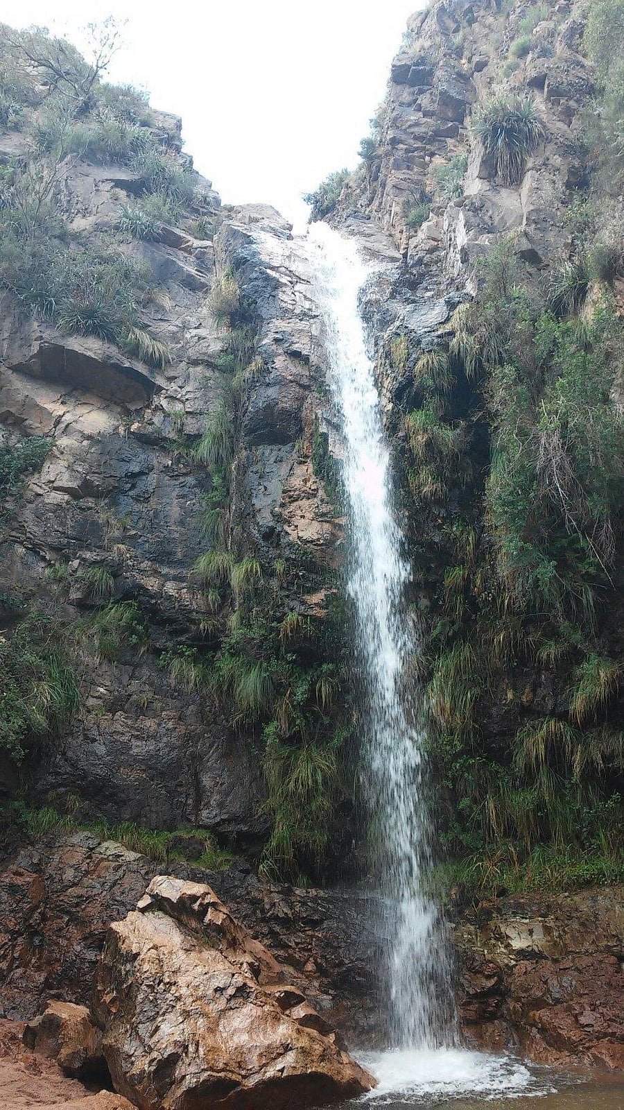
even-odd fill
[(54, 1060), (29, 1052), (22, 1045), (23, 1022), (0, 1018), (1, 1110), (127, 1110), (118, 1094), (88, 1090), (78, 1079), (67, 1079)]

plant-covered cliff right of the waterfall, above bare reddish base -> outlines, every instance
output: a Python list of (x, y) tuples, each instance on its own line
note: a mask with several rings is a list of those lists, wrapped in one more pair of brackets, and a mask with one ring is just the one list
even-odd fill
[[(345, 231), (373, 219), (403, 259), (365, 313), (425, 642), (441, 833), (477, 872), (482, 852), (494, 861), (492, 892), (539, 845), (551, 880), (575, 854), (617, 874), (614, 18), (430, 4), (410, 21), (361, 168), (314, 198)], [(460, 886), (474, 874), (460, 868)]]

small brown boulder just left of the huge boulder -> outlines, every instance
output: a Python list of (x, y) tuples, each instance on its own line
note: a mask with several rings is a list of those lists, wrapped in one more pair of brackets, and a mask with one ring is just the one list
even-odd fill
[(23, 1042), (32, 1052), (54, 1059), (66, 1076), (87, 1079), (105, 1073), (102, 1035), (85, 1006), (48, 1002), (43, 1013), (28, 1022)]

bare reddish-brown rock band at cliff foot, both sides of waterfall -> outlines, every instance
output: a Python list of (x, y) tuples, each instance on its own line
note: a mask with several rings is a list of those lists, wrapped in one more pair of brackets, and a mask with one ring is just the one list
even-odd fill
[[(109, 925), (137, 920), (159, 866), (88, 833), (16, 848), (0, 871), (0, 1017), (32, 1019), (49, 999), (90, 1005)], [(168, 869), (177, 880), (219, 891), (323, 1028), (335, 1027), (351, 1043), (379, 1042), (379, 936), (362, 895), (264, 884), (240, 866)], [(155, 912), (150, 906), (139, 915), (145, 911)], [(187, 928), (177, 920), (172, 929)], [(502, 898), (465, 910), (453, 941), (469, 1043), (512, 1048), (545, 1063), (624, 1067), (623, 926), (623, 887)], [(137, 936), (145, 928), (133, 926)]]

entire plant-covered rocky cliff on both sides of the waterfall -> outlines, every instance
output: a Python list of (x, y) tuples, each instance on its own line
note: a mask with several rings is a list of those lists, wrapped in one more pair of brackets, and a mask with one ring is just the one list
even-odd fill
[[(621, 877), (622, 165), (596, 8), (617, 16), (430, 4), (362, 165), (313, 194), (375, 269), (362, 305), (455, 917)], [(276, 885), (366, 870), (342, 445), (306, 252), (272, 209), (221, 204), (180, 121), (89, 84), (71, 51), (51, 77), (56, 40), (1, 30), (6, 1012), (87, 1001), (108, 922), (165, 862), (208, 869), (362, 1033), (361, 898)], [(501, 919), (554, 912), (530, 897)], [(591, 918), (586, 948), (548, 925), (556, 952), (523, 940), (521, 967), (489, 912), (457, 926), (471, 1033), (616, 1062), (591, 987), (615, 927)], [(565, 902), (566, 922), (588, 912)]]

